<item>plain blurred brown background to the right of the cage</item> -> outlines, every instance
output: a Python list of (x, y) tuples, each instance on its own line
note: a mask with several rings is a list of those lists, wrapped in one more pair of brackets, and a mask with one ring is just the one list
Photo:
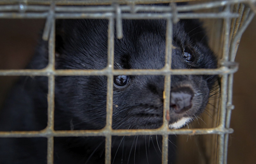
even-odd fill
[(244, 32), (236, 55), (239, 69), (234, 74), (233, 104), (228, 164), (256, 161), (256, 18)]

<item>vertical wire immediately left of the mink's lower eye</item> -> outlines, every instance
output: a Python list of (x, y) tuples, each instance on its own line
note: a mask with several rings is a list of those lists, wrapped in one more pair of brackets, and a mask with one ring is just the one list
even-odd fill
[[(107, 117), (106, 130), (112, 130), (113, 114), (113, 69), (114, 69), (114, 16), (108, 19), (108, 85), (107, 85)], [(111, 134), (107, 134), (105, 139), (105, 164), (111, 163)]]

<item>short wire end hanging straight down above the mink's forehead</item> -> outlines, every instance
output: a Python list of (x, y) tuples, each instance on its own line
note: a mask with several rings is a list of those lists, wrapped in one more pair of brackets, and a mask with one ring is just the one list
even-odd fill
[(116, 35), (118, 39), (123, 38), (122, 10), (119, 4), (113, 4), (116, 9)]

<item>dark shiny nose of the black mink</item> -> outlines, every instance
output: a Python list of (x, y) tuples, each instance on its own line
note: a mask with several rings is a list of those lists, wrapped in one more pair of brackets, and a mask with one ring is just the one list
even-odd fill
[(170, 107), (175, 113), (183, 113), (192, 107), (194, 92), (189, 87), (180, 87), (171, 91)]

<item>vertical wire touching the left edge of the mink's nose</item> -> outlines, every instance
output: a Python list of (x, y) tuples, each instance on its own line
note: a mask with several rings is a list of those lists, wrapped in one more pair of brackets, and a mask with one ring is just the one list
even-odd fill
[[(165, 41), (165, 68), (170, 70), (172, 65), (172, 20), (166, 19), (166, 41)], [(164, 109), (163, 109), (163, 130), (169, 130), (170, 120), (170, 96), (171, 96), (171, 75), (164, 77)], [(163, 135), (162, 141), (162, 164), (168, 163), (168, 135)]]

